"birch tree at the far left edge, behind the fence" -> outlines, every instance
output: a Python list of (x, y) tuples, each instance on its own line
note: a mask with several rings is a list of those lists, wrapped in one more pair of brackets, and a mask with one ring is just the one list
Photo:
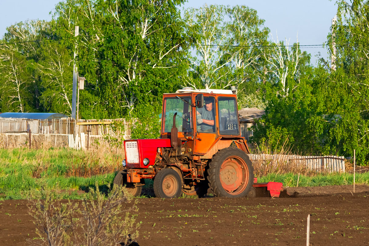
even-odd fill
[(32, 108), (35, 96), (35, 79), (32, 64), (37, 60), (35, 42), (46, 29), (46, 22), (30, 20), (18, 22), (7, 28), (0, 45), (0, 74), (4, 90), (1, 92), (3, 110), (27, 112)]

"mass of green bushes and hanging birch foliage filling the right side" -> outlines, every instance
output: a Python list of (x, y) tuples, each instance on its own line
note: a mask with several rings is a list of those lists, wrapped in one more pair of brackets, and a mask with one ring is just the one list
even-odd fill
[[(266, 115), (254, 141), (274, 147), (287, 141), (294, 152), (353, 156), (369, 160), (368, 58), (369, 3), (338, 1), (338, 20), (328, 36), (335, 69), (321, 59), (314, 69), (286, 78), (286, 90), (266, 87)], [(360, 33), (360, 35), (358, 35)], [(335, 42), (335, 46), (333, 45)]]

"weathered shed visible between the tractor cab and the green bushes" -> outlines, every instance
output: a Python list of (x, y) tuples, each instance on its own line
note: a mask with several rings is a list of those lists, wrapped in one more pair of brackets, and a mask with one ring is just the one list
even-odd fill
[(259, 110), (258, 108), (242, 108), (238, 110), (239, 124), (241, 135), (245, 137), (247, 141), (253, 135), (252, 130), (248, 129), (256, 124), (263, 115), (265, 110)]

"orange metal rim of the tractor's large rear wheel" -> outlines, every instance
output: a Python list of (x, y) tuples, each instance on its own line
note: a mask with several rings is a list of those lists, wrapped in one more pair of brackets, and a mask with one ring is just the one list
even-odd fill
[(231, 194), (241, 194), (249, 182), (249, 169), (244, 159), (230, 156), (220, 166), (219, 179), (223, 189)]

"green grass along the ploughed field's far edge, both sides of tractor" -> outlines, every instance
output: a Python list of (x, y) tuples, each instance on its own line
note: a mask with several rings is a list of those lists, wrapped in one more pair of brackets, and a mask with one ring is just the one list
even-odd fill
[[(72, 149), (0, 149), (0, 198), (24, 199), (31, 189), (39, 189), (40, 181), (54, 190), (57, 185), (63, 198), (79, 199), (90, 187), (99, 185), (101, 191), (113, 183), (120, 163), (111, 153), (86, 153)], [(80, 175), (76, 175), (80, 174)], [(83, 176), (83, 177), (81, 177)], [(268, 174), (258, 182), (276, 181), (296, 187), (297, 174)], [(145, 188), (152, 188), (146, 180)], [(300, 175), (299, 186), (351, 185), (354, 176), (348, 173)], [(356, 184), (369, 184), (369, 173), (356, 173)]]

